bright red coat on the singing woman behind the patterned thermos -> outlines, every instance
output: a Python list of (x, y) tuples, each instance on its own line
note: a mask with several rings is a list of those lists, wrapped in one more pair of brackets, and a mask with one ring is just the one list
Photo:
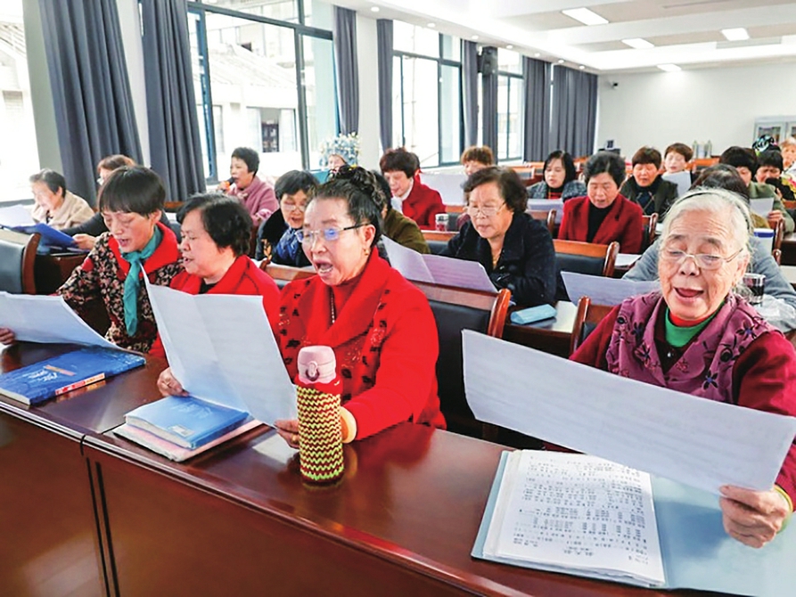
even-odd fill
[(342, 378), (342, 403), (357, 421), (357, 439), (402, 421), (445, 428), (439, 412), (436, 364), (437, 325), (420, 290), (375, 252), (348, 288), (332, 287), (317, 276), (282, 290), (279, 347), (295, 380), (299, 351), (332, 347)]

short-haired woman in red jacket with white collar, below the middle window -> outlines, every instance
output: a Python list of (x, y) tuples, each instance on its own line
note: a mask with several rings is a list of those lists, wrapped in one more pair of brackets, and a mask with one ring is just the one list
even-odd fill
[(445, 213), (445, 206), (439, 192), (415, 176), (420, 170), (417, 156), (403, 147), (387, 150), (379, 160), (379, 167), (390, 184), (393, 207), (421, 228), (433, 230), (437, 214)]

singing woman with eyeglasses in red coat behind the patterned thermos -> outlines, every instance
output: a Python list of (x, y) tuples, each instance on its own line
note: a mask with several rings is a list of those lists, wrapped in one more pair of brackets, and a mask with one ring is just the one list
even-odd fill
[[(343, 166), (308, 200), (299, 240), (317, 275), (282, 291), (278, 340), (291, 378), (302, 347), (332, 347), (342, 379), (343, 440), (402, 421), (445, 428), (437, 326), (423, 292), (379, 257), (380, 193), (365, 168)], [(298, 421), (276, 421), (298, 444)]]

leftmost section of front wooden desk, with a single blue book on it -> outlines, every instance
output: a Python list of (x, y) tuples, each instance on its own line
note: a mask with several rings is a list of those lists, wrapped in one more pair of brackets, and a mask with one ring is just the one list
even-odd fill
[[(0, 356), (0, 372), (61, 354), (68, 345), (20, 343)], [(105, 595), (105, 560), (81, 441), (158, 395), (165, 363), (152, 360), (39, 406), (0, 397), (0, 593)]]

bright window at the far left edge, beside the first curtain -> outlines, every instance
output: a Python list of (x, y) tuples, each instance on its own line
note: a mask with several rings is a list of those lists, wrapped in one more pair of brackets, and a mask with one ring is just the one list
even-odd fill
[(7, 0), (0, 8), (0, 91), (0, 138), (6, 141), (0, 144), (0, 180), (3, 180), (0, 201), (28, 199), (31, 196), (28, 178), (40, 166), (30, 101), (22, 0)]

